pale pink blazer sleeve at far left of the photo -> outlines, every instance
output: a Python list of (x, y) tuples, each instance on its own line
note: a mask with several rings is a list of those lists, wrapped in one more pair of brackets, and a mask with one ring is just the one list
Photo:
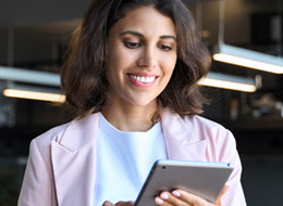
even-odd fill
[(17, 202), (19, 206), (56, 205), (50, 159), (50, 146), (40, 146), (40, 141), (33, 140)]

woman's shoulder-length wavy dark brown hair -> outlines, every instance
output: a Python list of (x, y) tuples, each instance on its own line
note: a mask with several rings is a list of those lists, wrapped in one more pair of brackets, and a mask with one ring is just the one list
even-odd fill
[(128, 11), (152, 7), (171, 17), (177, 34), (177, 61), (158, 105), (181, 116), (199, 114), (206, 99), (197, 81), (210, 67), (211, 56), (201, 43), (194, 18), (181, 0), (91, 0), (82, 25), (74, 31), (61, 73), (66, 103), (78, 116), (101, 112), (108, 99), (106, 65), (108, 35)]

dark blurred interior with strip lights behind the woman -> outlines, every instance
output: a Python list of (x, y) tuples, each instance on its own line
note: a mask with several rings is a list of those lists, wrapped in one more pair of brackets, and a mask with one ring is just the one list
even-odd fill
[[(184, 2), (214, 59), (204, 116), (234, 133), (248, 205), (282, 205), (283, 1)], [(59, 72), (88, 3), (0, 0), (0, 206), (16, 205), (30, 140), (74, 117)]]

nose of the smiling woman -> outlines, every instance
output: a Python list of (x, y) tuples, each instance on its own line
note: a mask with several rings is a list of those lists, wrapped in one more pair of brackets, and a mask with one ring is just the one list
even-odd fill
[(155, 68), (158, 64), (158, 54), (153, 47), (145, 47), (137, 61), (138, 66)]

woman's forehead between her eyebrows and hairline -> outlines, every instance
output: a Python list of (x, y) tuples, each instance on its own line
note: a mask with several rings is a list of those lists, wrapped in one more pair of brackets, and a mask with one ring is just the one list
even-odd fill
[(142, 7), (127, 12), (123, 18), (113, 25), (111, 30), (114, 33), (135, 30), (146, 36), (171, 35), (176, 37), (172, 18), (151, 7)]

